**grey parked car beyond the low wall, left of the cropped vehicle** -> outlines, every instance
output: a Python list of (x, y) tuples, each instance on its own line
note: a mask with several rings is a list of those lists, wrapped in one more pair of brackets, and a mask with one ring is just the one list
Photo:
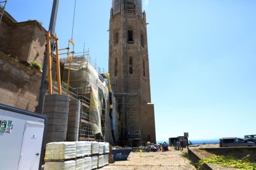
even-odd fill
[(237, 137), (223, 137), (220, 139), (220, 147), (256, 147), (256, 144)]

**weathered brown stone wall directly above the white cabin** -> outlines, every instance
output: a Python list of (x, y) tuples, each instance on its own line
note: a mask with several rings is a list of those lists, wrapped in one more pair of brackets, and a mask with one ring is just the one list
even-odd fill
[(35, 111), (41, 71), (30, 69), (0, 52), (0, 103)]

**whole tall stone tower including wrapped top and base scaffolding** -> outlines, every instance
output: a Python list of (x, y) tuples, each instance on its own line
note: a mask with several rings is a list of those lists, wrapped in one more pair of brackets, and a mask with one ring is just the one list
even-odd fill
[[(120, 112), (119, 140), (156, 143), (151, 103), (147, 22), (142, 0), (113, 0), (109, 20), (109, 73)], [(122, 98), (118, 94), (122, 93)], [(138, 94), (137, 100), (128, 94)], [(134, 103), (137, 102), (137, 122)], [(136, 110), (136, 109), (135, 109)], [(127, 115), (128, 114), (128, 115)], [(129, 118), (128, 118), (129, 117)], [(134, 132), (132, 132), (134, 131)], [(132, 136), (138, 134), (139, 136)]]

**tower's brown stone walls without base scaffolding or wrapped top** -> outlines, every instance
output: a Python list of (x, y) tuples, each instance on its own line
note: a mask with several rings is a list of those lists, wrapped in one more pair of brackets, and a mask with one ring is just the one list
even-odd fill
[[(147, 42), (147, 21), (146, 14), (143, 16), (138, 12), (128, 12), (125, 14), (124, 4), (121, 4), (121, 12), (113, 14), (110, 12), (109, 20), (109, 73), (111, 86), (114, 94), (119, 91), (140, 90), (139, 103), (139, 126), (143, 142), (156, 142), (155, 134), (155, 113), (154, 105), (151, 103), (150, 95), (150, 73), (148, 62), (148, 42)], [(136, 10), (137, 11), (137, 10)], [(127, 33), (132, 30), (133, 42), (128, 43)], [(118, 36), (117, 36), (118, 35)], [(143, 35), (143, 36), (142, 36)], [(144, 45), (141, 44), (143, 37)], [(132, 72), (130, 73), (130, 57), (132, 57)], [(117, 60), (117, 67), (116, 67)], [(117, 74), (116, 74), (117, 68)], [(125, 102), (119, 99), (119, 103)], [(122, 105), (125, 107), (125, 105)], [(127, 108), (129, 110), (129, 108)], [(126, 126), (125, 109), (121, 110), (120, 125)], [(130, 125), (132, 126), (132, 125)], [(130, 129), (135, 129), (130, 127)], [(126, 135), (125, 127), (121, 129), (121, 136)], [(121, 138), (122, 140), (122, 138)]]

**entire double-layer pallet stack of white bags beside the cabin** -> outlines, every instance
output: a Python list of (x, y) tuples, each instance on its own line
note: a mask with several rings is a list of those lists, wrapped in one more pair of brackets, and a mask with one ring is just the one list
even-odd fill
[[(108, 153), (109, 143), (107, 142), (51, 142), (46, 144), (46, 163), (43, 167), (45, 170), (96, 169), (108, 164)], [(85, 157), (81, 158), (83, 156)]]

